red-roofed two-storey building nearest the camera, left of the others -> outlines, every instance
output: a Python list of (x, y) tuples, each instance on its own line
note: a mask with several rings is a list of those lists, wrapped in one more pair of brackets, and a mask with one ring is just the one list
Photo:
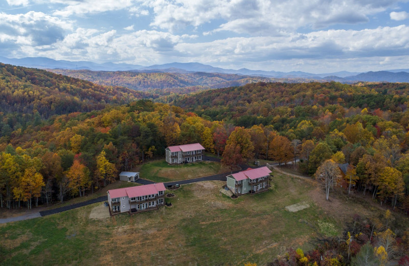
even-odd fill
[(163, 183), (118, 188), (108, 190), (110, 213), (136, 213), (158, 209), (165, 205), (165, 186)]

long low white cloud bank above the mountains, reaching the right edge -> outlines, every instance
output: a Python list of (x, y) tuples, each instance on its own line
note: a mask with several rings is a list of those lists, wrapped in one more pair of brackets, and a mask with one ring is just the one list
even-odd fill
[(202, 43), (178, 43), (175, 48), (190, 61), (252, 62), (270, 60), (327, 60), (406, 56), (409, 27), (366, 30), (327, 30), (280, 36), (235, 37)]

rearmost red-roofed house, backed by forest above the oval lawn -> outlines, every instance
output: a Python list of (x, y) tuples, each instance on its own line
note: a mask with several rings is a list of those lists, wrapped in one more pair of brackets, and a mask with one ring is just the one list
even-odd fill
[(203, 160), (205, 148), (199, 143), (169, 146), (165, 149), (165, 154), (169, 164), (193, 163)]

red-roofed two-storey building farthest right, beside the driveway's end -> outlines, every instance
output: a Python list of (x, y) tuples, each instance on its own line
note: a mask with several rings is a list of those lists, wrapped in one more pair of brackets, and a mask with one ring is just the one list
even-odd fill
[(248, 168), (245, 171), (234, 173), (226, 176), (227, 187), (236, 196), (245, 193), (258, 193), (268, 190), (270, 185), (270, 169), (266, 166), (252, 169)]

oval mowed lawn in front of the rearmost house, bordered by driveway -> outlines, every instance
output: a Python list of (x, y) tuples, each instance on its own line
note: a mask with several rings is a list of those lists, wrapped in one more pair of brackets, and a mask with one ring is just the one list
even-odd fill
[(170, 182), (230, 172), (230, 169), (217, 162), (169, 165), (165, 160), (158, 160), (143, 164), (137, 171), (140, 172), (142, 179), (154, 182)]

